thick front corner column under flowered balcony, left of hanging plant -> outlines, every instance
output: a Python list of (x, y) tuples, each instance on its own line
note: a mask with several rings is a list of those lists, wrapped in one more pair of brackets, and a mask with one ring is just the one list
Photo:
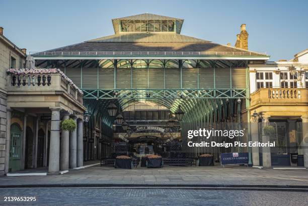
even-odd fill
[(58, 174), (60, 161), (60, 109), (51, 109), (49, 174)]

